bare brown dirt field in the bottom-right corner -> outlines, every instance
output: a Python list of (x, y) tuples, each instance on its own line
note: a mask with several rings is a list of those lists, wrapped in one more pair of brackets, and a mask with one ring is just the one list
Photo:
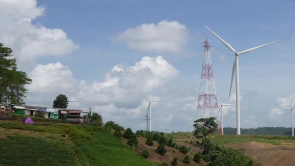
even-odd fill
[(242, 149), (246, 156), (255, 160), (256, 166), (295, 166), (294, 144), (275, 146), (259, 142), (248, 142), (225, 146)]

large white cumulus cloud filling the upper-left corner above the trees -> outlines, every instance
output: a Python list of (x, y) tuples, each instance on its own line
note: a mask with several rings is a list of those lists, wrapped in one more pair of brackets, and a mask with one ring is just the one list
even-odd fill
[(14, 50), (21, 62), (32, 61), (38, 56), (65, 55), (79, 46), (61, 29), (49, 29), (31, 20), (45, 14), (45, 7), (36, 0), (1, 0), (0, 41)]

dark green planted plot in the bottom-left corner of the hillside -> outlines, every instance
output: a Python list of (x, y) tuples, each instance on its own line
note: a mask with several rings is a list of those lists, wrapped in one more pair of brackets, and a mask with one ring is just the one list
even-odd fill
[(0, 139), (0, 165), (77, 166), (78, 164), (65, 139), (47, 141), (15, 135)]

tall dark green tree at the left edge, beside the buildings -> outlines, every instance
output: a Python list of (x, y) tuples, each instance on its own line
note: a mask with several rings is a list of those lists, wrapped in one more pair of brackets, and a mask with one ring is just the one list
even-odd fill
[(32, 80), (26, 72), (17, 71), (16, 58), (12, 56), (12, 50), (0, 43), (0, 103), (25, 104), (25, 85)]

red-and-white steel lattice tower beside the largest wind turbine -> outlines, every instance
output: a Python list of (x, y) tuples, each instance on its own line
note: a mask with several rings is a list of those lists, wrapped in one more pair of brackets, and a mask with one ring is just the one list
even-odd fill
[(216, 117), (218, 128), (220, 129), (220, 116), (218, 114), (219, 106), (213, 77), (210, 45), (207, 37), (203, 47), (205, 48), (205, 58), (203, 59), (201, 82), (199, 86), (199, 96), (197, 101), (197, 117)]

